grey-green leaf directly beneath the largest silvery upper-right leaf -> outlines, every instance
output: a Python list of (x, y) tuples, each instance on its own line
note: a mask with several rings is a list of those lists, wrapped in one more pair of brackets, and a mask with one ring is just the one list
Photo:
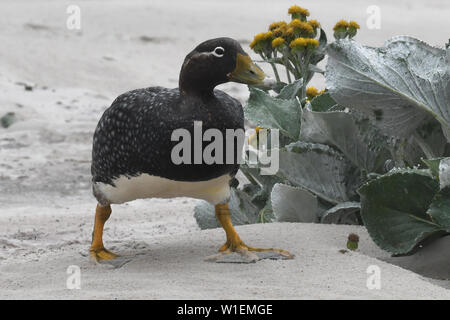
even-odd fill
[(354, 165), (367, 172), (377, 171), (389, 156), (385, 149), (387, 137), (368, 119), (339, 110), (328, 93), (306, 105), (300, 136), (305, 141), (337, 147)]

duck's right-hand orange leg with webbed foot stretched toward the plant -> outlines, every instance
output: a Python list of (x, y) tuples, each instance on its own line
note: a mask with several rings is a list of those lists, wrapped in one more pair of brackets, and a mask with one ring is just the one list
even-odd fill
[[(216, 211), (216, 218), (219, 220), (220, 224), (222, 225), (223, 229), (225, 230), (227, 241), (225, 244), (220, 247), (219, 252), (224, 254), (229, 254), (231, 252), (239, 252), (250, 259), (255, 259), (257, 256), (252, 252), (274, 252), (278, 254), (279, 256), (283, 257), (284, 259), (292, 259), (293, 256), (286, 250), (282, 249), (262, 249), (262, 248), (253, 248), (250, 246), (247, 246), (239, 237), (236, 230), (233, 227), (233, 224), (231, 222), (230, 218), (230, 209), (228, 208), (228, 204), (217, 204), (215, 207)], [(220, 255), (219, 255), (220, 256)]]

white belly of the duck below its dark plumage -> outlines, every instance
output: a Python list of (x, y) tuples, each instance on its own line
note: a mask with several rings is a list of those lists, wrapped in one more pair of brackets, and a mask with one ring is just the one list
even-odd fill
[(120, 176), (113, 180), (115, 186), (103, 182), (94, 183), (94, 193), (109, 203), (124, 203), (145, 198), (190, 197), (217, 204), (230, 197), (227, 175), (207, 181), (176, 181), (149, 174), (136, 177)]

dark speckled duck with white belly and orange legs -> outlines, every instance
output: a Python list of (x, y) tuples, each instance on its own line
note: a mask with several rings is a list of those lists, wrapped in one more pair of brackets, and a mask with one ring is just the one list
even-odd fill
[[(174, 132), (195, 134), (202, 130), (244, 130), (241, 103), (215, 89), (226, 82), (270, 87), (273, 80), (258, 67), (232, 38), (215, 38), (196, 46), (184, 59), (178, 88), (149, 87), (118, 96), (100, 118), (93, 136), (92, 191), (97, 200), (90, 257), (97, 262), (118, 257), (105, 248), (103, 229), (111, 205), (136, 199), (191, 197), (210, 202), (225, 231), (226, 242), (214, 261), (238, 253), (246, 261), (258, 260), (264, 252), (282, 258), (292, 255), (282, 249), (253, 248), (239, 237), (230, 219), (230, 183), (239, 170), (238, 150), (233, 161), (195, 161), (198, 146), (180, 152), (187, 161), (174, 161), (180, 141)], [(239, 139), (237, 139), (239, 140)], [(206, 142), (200, 148), (204, 150)], [(189, 148), (188, 148), (189, 149)], [(231, 151), (221, 149), (224, 154)], [(192, 160), (193, 161), (189, 161)]]

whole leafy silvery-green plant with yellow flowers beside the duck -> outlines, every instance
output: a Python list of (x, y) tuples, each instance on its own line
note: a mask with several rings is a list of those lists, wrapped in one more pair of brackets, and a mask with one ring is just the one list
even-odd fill
[[(309, 13), (296, 10), (308, 23)], [(364, 223), (383, 249), (410, 253), (450, 230), (450, 49), (411, 37), (367, 47), (352, 39), (356, 30), (339, 21), (334, 43), (320, 29), (311, 35), (319, 45), (303, 51), (255, 37), (252, 47), (294, 80), (279, 79), (276, 95), (249, 88), (245, 116), (279, 130), (280, 168), (263, 176), (244, 165), (248, 183), (234, 190), (247, 194), (241, 208), (254, 204), (245, 214), (255, 221)], [(327, 90), (308, 90), (325, 54)]]

